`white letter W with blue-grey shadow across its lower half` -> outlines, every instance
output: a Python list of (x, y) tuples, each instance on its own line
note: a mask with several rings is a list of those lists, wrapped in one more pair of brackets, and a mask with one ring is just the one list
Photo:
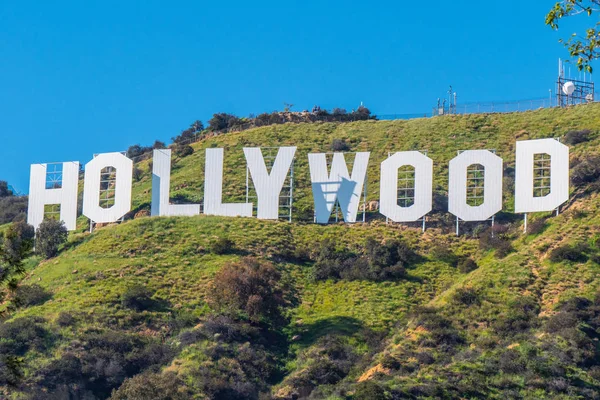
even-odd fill
[(327, 173), (325, 153), (308, 155), (310, 180), (318, 223), (326, 224), (329, 221), (336, 199), (342, 209), (344, 221), (356, 222), (356, 214), (367, 175), (370, 154), (368, 152), (356, 153), (354, 165), (352, 166), (352, 177), (348, 174), (348, 167), (343, 153), (333, 155), (330, 174)]

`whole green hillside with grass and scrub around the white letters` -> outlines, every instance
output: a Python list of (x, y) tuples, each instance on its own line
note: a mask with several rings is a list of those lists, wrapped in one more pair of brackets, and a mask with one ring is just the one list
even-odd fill
[[(558, 216), (531, 215), (523, 234), (511, 213), (515, 142), (570, 131), (583, 131), (571, 145), (571, 200)], [(334, 139), (371, 152), (369, 199), (379, 198), (388, 152), (427, 150), (443, 199), (458, 150), (495, 149), (504, 212), (493, 232), (463, 224), (458, 237), (439, 207), (425, 233), (377, 213), (367, 224), (309, 223), (307, 154), (330, 151)], [(208, 137), (174, 158), (171, 196), (200, 202), (203, 150), (222, 147), (224, 201), (245, 200), (242, 147), (284, 145), (298, 146), (292, 223), (131, 217), (90, 234), (82, 217), (58, 257), (29, 258), (20, 285), (30, 301), (16, 289), (0, 303), (0, 350), (10, 355), (0, 360), (0, 397), (600, 398), (600, 104)], [(149, 160), (138, 167), (132, 216), (151, 197)], [(248, 257), (280, 274), (281, 320), (212, 301), (219, 271)], [(352, 265), (376, 271), (352, 275)]]

